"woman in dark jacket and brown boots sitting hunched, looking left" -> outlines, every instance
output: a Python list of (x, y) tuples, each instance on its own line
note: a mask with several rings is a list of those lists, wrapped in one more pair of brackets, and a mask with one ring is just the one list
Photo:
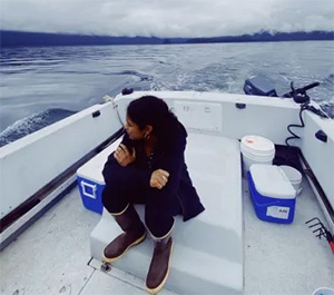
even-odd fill
[(106, 262), (120, 258), (146, 237), (132, 204), (145, 204), (146, 227), (155, 240), (146, 286), (159, 292), (168, 275), (174, 216), (184, 222), (204, 210), (185, 164), (187, 132), (167, 104), (144, 96), (130, 102), (126, 134), (104, 168), (102, 203), (125, 232), (104, 250)]

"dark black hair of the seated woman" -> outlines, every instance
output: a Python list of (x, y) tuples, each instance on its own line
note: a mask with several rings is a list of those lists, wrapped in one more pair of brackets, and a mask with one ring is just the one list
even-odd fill
[(167, 139), (170, 131), (179, 125), (167, 104), (155, 96), (144, 96), (132, 100), (127, 112), (141, 130), (146, 125), (150, 125), (153, 127), (151, 134), (158, 139)]

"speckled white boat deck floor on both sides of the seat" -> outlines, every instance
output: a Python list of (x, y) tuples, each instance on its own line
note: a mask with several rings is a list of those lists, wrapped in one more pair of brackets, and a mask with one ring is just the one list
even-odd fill
[[(279, 225), (257, 219), (243, 179), (244, 294), (311, 295), (320, 286), (334, 287), (327, 242), (305, 225), (313, 217), (325, 218), (306, 179), (302, 186), (293, 224)], [(147, 294), (145, 281), (116, 267), (104, 273), (91, 259), (90, 234), (99, 220), (100, 215), (84, 208), (76, 187), (0, 253), (0, 294)]]

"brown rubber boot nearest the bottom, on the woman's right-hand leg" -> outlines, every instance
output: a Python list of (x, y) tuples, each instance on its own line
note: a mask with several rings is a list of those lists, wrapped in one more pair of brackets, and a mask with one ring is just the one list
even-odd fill
[(157, 294), (164, 287), (169, 273), (171, 252), (173, 239), (170, 235), (155, 242), (155, 250), (146, 278), (146, 289), (149, 294)]

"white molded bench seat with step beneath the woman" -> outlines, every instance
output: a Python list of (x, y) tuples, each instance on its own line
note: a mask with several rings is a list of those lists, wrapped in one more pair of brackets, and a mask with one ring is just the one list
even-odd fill
[[(179, 294), (242, 294), (244, 250), (239, 142), (218, 136), (189, 134), (186, 164), (206, 210), (186, 223), (181, 216), (176, 217), (175, 247), (165, 287)], [(144, 220), (144, 206), (136, 205), (136, 209)], [(104, 248), (120, 233), (105, 209), (90, 236), (91, 256), (101, 260)], [(148, 237), (112, 265), (145, 279), (153, 247)]]

